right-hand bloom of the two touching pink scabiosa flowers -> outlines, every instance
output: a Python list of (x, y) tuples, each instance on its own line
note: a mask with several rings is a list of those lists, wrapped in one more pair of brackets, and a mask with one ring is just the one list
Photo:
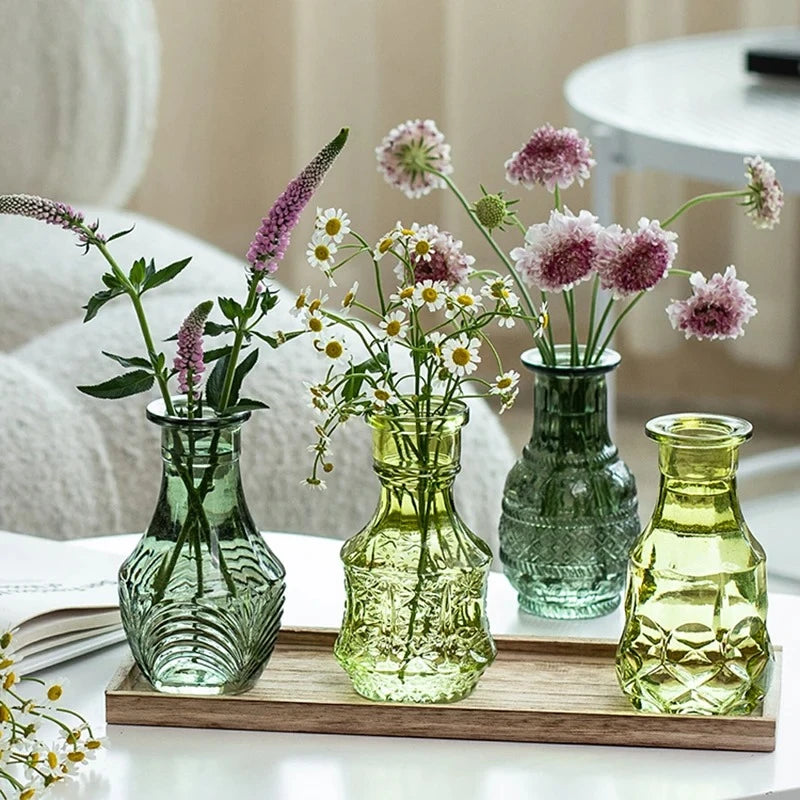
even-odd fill
[(597, 273), (615, 298), (652, 289), (667, 277), (678, 253), (677, 233), (662, 230), (658, 220), (642, 217), (639, 230), (612, 225), (600, 234)]

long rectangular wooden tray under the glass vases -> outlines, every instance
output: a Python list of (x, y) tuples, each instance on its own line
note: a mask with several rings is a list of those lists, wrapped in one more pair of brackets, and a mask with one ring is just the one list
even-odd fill
[(238, 696), (160, 694), (132, 662), (106, 690), (106, 719), (121, 725), (423, 736), (509, 742), (775, 749), (780, 652), (763, 709), (751, 716), (643, 714), (621, 694), (615, 643), (496, 636), (497, 660), (458, 703), (373, 703), (333, 658), (336, 631), (284, 628), (264, 675)]

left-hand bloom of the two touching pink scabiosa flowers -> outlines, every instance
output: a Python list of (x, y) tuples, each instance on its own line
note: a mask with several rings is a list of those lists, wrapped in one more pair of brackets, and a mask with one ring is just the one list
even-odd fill
[(546, 292), (561, 292), (587, 280), (597, 268), (597, 217), (581, 211), (576, 217), (568, 208), (553, 210), (549, 222), (531, 225), (525, 246), (511, 251), (517, 271), (529, 286)]

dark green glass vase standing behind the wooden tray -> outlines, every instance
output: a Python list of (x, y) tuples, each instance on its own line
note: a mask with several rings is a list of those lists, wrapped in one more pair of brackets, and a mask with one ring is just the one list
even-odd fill
[(555, 366), (522, 355), (536, 376), (533, 433), (506, 479), (500, 559), (531, 614), (581, 619), (619, 605), (640, 530), (636, 482), (608, 431), (606, 375), (619, 361), (606, 350), (573, 367), (567, 345)]

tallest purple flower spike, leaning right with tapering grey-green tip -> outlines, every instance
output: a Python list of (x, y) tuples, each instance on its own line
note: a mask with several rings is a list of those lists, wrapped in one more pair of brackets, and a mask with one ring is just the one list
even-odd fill
[(311, 163), (284, 189), (261, 221), (261, 227), (256, 231), (247, 251), (247, 260), (253, 272), (273, 273), (278, 269), (278, 262), (289, 247), (292, 229), (322, 183), (325, 173), (342, 151), (348, 133), (349, 128), (342, 128), (339, 135), (317, 153)]

